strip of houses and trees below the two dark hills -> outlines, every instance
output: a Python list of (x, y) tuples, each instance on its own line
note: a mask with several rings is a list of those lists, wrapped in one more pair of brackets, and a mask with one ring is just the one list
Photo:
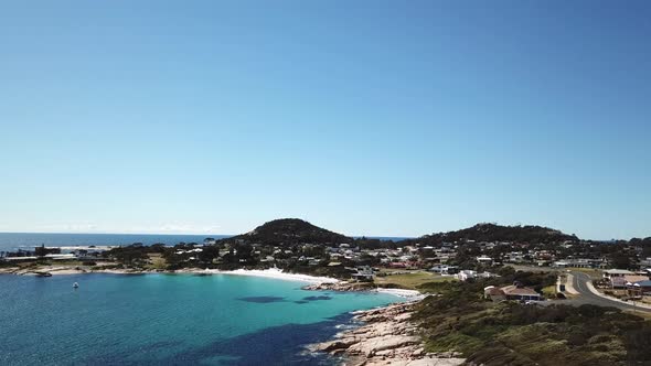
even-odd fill
[[(367, 277), (367, 271), (359, 270), (363, 266), (405, 270), (425, 269), (440, 274), (457, 276), (460, 280), (489, 277), (491, 274), (487, 270), (502, 265), (596, 269), (619, 267), (642, 270), (651, 268), (651, 258), (639, 259), (644, 252), (641, 246), (619, 247), (618, 250), (630, 258), (631, 266), (613, 263), (612, 254), (604, 250), (608, 249), (608, 246), (609, 244), (570, 240), (532, 244), (469, 239), (437, 244), (409, 240), (408, 245), (384, 243), (377, 246), (360, 245), (359, 240), (330, 245), (310, 243), (266, 245), (248, 243), (244, 239), (220, 241), (206, 238), (202, 244), (179, 244), (173, 248), (160, 245), (159, 254), (164, 256), (168, 262), (181, 267), (224, 263), (279, 268), (341, 267), (354, 269), (351, 273), (357, 273), (355, 276), (357, 278)], [(143, 248), (142, 245), (131, 247)], [(118, 255), (121, 251), (110, 249), (113, 248), (85, 247), (67, 248), (62, 251), (56, 248), (38, 247), (34, 251), (4, 252), (0, 255), (0, 259), (4, 261), (29, 261), (43, 258), (88, 261), (119, 259)], [(141, 258), (141, 260), (147, 261), (150, 258)], [(623, 283), (631, 282), (629, 280)], [(615, 280), (612, 287), (622, 286), (620, 282), (621, 280)]]

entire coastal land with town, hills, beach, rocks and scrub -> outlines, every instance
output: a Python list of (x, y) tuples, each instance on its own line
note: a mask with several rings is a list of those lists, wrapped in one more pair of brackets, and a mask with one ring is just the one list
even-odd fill
[[(649, 342), (645, 335), (651, 334), (651, 327), (643, 316), (651, 315), (650, 251), (651, 238), (590, 241), (538, 226), (479, 224), (391, 241), (351, 238), (300, 219), (278, 219), (247, 234), (209, 237), (203, 243), (40, 246), (2, 252), (0, 272), (38, 277), (151, 272), (298, 276), (311, 282), (306, 290), (393, 291), (410, 300), (387, 308), (388, 313), (360, 313), (364, 327), (312, 346), (316, 352), (356, 359), (353, 364), (430, 365), (436, 360), (437, 365), (458, 365), (473, 360), (501, 365), (504, 358), (497, 356), (500, 353), (492, 341), (499, 336), (513, 343), (508, 347), (515, 349), (510, 364), (527, 364), (554, 353), (555, 357), (583, 355), (581, 359), (612, 365), (628, 359), (630, 347)], [(549, 316), (555, 319), (552, 323)], [(602, 325), (575, 334), (572, 324), (576, 316), (587, 316), (584, 321), (590, 322), (597, 316)], [(480, 317), (482, 323), (494, 317), (504, 326), (479, 334), (465, 331), (473, 329)], [(640, 325), (634, 337), (612, 338), (616, 333), (602, 329), (631, 323)], [(544, 337), (564, 342), (563, 346), (553, 352), (531, 351), (531, 345), (509, 333), (515, 327), (541, 331), (531, 326), (556, 330)], [(569, 333), (559, 332), (559, 327)]]

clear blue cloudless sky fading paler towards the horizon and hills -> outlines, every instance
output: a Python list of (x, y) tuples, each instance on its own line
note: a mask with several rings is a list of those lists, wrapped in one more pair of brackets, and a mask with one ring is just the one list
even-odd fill
[(648, 1), (1, 1), (0, 232), (651, 236)]

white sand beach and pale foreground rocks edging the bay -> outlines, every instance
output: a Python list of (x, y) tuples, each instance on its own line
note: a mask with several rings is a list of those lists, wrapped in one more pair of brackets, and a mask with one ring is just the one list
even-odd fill
[[(52, 276), (66, 274), (195, 274), (195, 276), (249, 276), (286, 281), (306, 283), (303, 290), (314, 291), (357, 291), (377, 292), (392, 294), (405, 299), (404, 302), (394, 303), (384, 308), (372, 310), (353, 311), (355, 326), (335, 335), (334, 340), (310, 345), (312, 352), (327, 353), (331, 356), (343, 357), (345, 365), (439, 365), (456, 366), (463, 359), (455, 357), (453, 353), (430, 354), (424, 351), (423, 341), (418, 334), (417, 324), (409, 321), (412, 308), (415, 303), (425, 298), (419, 291), (405, 289), (384, 289), (340, 281), (328, 277), (316, 277), (300, 273), (288, 273), (279, 269), (232, 271), (210, 269), (182, 269), (177, 271), (161, 270), (134, 270), (134, 269), (84, 269), (72, 266), (44, 266), (31, 269), (0, 268), (0, 274), (15, 276), (40, 276), (51, 273)], [(362, 284), (362, 286), (360, 286)], [(361, 325), (360, 325), (361, 324)], [(357, 326), (359, 325), (359, 326)]]

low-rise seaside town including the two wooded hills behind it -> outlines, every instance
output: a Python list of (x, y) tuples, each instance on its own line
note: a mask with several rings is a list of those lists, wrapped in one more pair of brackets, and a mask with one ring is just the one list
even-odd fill
[[(291, 223), (291, 224), (289, 224)], [(322, 230), (298, 219), (279, 219), (256, 230), (294, 230), (290, 225)], [(287, 226), (287, 227), (286, 227)], [(476, 240), (499, 230), (547, 230), (538, 241)], [(473, 235), (472, 232), (477, 232)], [(254, 232), (256, 233), (256, 232)], [(541, 227), (500, 227), (479, 224), (458, 233), (424, 236), (402, 241), (372, 238), (339, 237), (323, 230), (326, 237), (302, 243), (300, 235), (287, 243), (271, 243), (264, 235), (250, 234), (226, 239), (205, 238), (202, 243), (180, 243), (173, 246), (36, 246), (32, 250), (0, 251), (3, 272), (47, 276), (57, 271), (174, 271), (195, 269), (267, 269), (330, 276), (359, 282), (377, 281), (387, 276), (425, 273), (435, 278), (468, 281), (498, 276), (498, 268), (509, 266), (521, 270), (577, 270), (600, 273), (595, 280), (609, 294), (621, 294), (627, 289), (639, 289), (640, 295), (651, 292), (651, 238), (629, 241), (579, 240), (576, 237)], [(459, 235), (459, 233), (462, 233)], [(535, 235), (538, 235), (537, 233)], [(535, 236), (534, 235), (534, 236)], [(331, 240), (332, 236), (337, 240)], [(446, 240), (449, 236), (450, 240)], [(332, 243), (329, 243), (332, 241)], [(46, 269), (51, 269), (46, 271)], [(542, 294), (541, 294), (542, 295)], [(645, 300), (645, 299), (644, 299)], [(651, 303), (651, 300), (649, 301)]]

